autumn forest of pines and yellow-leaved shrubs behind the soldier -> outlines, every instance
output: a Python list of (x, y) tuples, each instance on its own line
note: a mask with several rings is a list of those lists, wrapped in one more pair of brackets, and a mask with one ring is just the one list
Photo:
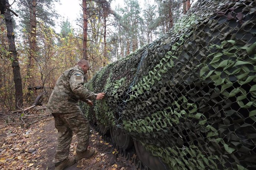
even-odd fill
[[(107, 64), (168, 32), (193, 0), (81, 0), (78, 29), (55, 8), (60, 0), (1, 0), (0, 113), (30, 106), (37, 96), (47, 103), (59, 75), (85, 58), (88, 79)], [(72, 13), (72, 11), (69, 11)], [(42, 99), (40, 99), (42, 101)]]

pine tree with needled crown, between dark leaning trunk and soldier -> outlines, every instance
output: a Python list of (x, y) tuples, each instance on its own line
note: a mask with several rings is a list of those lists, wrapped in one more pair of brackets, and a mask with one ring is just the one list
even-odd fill
[(33, 75), (31, 71), (34, 68), (34, 59), (37, 58), (37, 24), (39, 21), (43, 21), (46, 25), (54, 26), (54, 19), (58, 18), (53, 3), (58, 0), (18, 0), (20, 4), (20, 16), (22, 17), (22, 27), (26, 30), (28, 35), (24, 36), (27, 38), (29, 48), (28, 60), (27, 60), (27, 86), (34, 86)]

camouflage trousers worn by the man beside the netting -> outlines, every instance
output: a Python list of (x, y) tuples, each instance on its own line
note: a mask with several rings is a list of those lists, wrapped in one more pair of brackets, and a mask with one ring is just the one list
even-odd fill
[(52, 113), (58, 129), (58, 144), (53, 163), (63, 161), (69, 156), (73, 132), (77, 135), (76, 153), (83, 152), (89, 145), (90, 126), (82, 112)]

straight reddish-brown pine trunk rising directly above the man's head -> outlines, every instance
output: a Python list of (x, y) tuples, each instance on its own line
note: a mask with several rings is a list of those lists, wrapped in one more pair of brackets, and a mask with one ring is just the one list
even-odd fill
[(86, 0), (83, 0), (83, 58), (87, 59), (87, 8)]

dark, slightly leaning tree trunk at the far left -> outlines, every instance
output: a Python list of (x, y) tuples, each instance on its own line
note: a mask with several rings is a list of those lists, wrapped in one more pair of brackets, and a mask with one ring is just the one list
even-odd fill
[[(9, 0), (6, 0), (6, 4), (9, 4)], [(9, 43), (10, 55), (13, 57), (12, 68), (13, 68), (13, 80), (15, 86), (15, 108), (19, 109), (23, 106), (23, 92), (22, 92), (22, 79), (20, 76), (20, 66), (17, 58), (17, 51), (15, 46), (15, 37), (13, 32), (13, 22), (11, 13), (9, 10), (6, 10), (4, 14), (6, 29), (7, 29), (7, 38)]]

